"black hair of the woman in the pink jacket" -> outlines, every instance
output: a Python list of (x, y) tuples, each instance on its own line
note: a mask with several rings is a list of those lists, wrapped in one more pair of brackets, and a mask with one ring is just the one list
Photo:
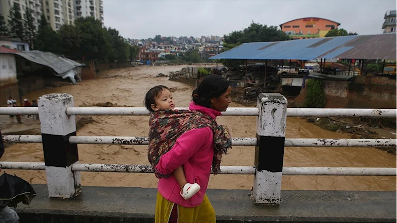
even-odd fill
[(210, 74), (201, 81), (199, 86), (193, 90), (193, 102), (211, 108), (212, 97), (218, 98), (224, 94), (230, 86), (230, 82), (221, 75)]

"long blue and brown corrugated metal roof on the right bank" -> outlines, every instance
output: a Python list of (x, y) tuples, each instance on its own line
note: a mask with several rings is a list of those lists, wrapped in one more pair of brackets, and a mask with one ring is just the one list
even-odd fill
[(210, 59), (314, 60), (319, 58), (396, 60), (396, 33), (244, 43)]

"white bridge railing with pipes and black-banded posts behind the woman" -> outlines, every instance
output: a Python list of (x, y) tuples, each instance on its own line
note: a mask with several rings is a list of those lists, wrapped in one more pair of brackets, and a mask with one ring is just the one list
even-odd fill
[[(4, 115), (39, 115), (41, 136), (4, 135), (4, 142), (42, 143), (42, 162), (0, 162), (2, 169), (46, 170), (50, 197), (70, 198), (81, 191), (81, 171), (153, 173), (150, 165), (79, 163), (78, 144), (148, 145), (147, 137), (77, 136), (76, 115), (149, 115), (145, 108), (74, 107), (69, 94), (48, 94), (38, 107), (0, 107)], [(280, 203), (282, 175), (396, 176), (396, 168), (283, 167), (284, 147), (389, 147), (392, 139), (286, 139), (287, 116), (396, 117), (396, 109), (287, 108), (281, 94), (262, 93), (256, 108), (228, 108), (224, 116), (256, 116), (255, 138), (233, 138), (233, 146), (255, 146), (254, 166), (221, 166), (220, 174), (254, 174), (255, 203)]]

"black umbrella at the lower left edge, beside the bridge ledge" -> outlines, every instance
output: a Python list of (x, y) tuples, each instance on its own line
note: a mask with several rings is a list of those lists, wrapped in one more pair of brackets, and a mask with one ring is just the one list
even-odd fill
[(16, 207), (19, 202), (28, 205), (35, 196), (36, 192), (26, 180), (7, 173), (0, 176), (0, 210), (6, 206)]

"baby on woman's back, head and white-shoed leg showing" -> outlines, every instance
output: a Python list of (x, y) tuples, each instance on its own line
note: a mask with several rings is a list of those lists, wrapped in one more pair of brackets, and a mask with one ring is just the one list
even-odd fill
[[(172, 94), (166, 86), (159, 85), (151, 88), (145, 95), (145, 107), (152, 113), (159, 110), (173, 110), (175, 102)], [(187, 200), (195, 195), (200, 190), (200, 185), (197, 183), (188, 183), (186, 181), (185, 172), (182, 166), (176, 168), (173, 172), (175, 179), (180, 186), (180, 195)]]

